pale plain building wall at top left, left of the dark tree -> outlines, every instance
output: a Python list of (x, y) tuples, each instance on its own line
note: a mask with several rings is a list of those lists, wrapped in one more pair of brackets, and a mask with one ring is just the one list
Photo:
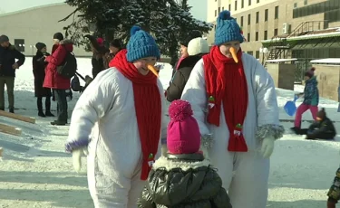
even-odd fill
[[(53, 34), (61, 32), (63, 27), (71, 23), (72, 18), (66, 22), (58, 23), (74, 8), (66, 4), (54, 4), (38, 6), (25, 9), (15, 13), (0, 14), (0, 33), (9, 37), (10, 42), (15, 44), (15, 39), (24, 39), (24, 55), (35, 54), (30, 45), (42, 42), (47, 45), (47, 51), (51, 52), (53, 45)], [(91, 56), (91, 52), (85, 52), (83, 47), (74, 47), (76, 56)]]

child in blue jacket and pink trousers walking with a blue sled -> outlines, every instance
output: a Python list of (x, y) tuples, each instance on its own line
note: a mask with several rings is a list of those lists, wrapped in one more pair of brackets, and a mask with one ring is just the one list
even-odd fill
[(319, 90), (317, 89), (317, 80), (314, 75), (316, 68), (311, 68), (305, 73), (306, 86), (303, 93), (298, 94), (299, 97), (304, 97), (302, 104), (296, 109), (296, 119), (294, 121), (294, 128), (291, 128), (294, 132), (298, 132), (301, 128), (302, 114), (309, 109), (312, 113), (312, 117), (316, 120), (317, 105), (319, 104)]

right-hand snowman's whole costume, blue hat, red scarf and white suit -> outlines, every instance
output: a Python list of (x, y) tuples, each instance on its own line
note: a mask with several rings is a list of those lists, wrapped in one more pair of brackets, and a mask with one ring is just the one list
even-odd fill
[(238, 61), (219, 51), (221, 44), (234, 41), (244, 38), (235, 19), (223, 11), (215, 46), (195, 65), (181, 99), (191, 103), (202, 145), (232, 207), (265, 208), (268, 157), (284, 128), (279, 125), (275, 85), (264, 67), (241, 50)]

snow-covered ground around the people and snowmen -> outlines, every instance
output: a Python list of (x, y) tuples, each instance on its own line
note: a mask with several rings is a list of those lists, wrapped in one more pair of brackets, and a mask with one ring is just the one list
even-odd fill
[[(36, 117), (31, 63), (32, 59), (27, 58), (24, 66), (17, 71), (15, 113), (35, 117), (36, 124), (0, 117), (0, 123), (23, 130), (22, 137), (0, 133), (0, 147), (5, 148), (4, 159), (0, 162), (0, 207), (93, 207), (87, 190), (85, 165), (82, 174), (75, 174), (71, 156), (64, 153), (63, 144), (68, 127), (53, 127), (49, 125), (53, 118)], [(90, 59), (78, 59), (78, 64), (83, 75), (91, 75)], [(170, 66), (164, 64), (160, 80), (165, 87), (168, 86), (170, 74)], [(302, 86), (296, 86), (296, 91), (302, 90)], [(282, 124), (287, 128), (287, 134), (277, 141), (271, 157), (267, 207), (325, 207), (325, 194), (339, 165), (340, 143), (307, 141), (292, 135), (288, 128), (293, 123), (287, 120), (293, 118), (287, 116), (282, 107), (287, 100), (293, 99), (294, 92), (277, 90), (277, 95), (281, 107), (280, 118), (286, 120)], [(69, 102), (69, 115), (78, 98), (79, 93), (74, 92), (73, 100)], [(336, 112), (337, 102), (321, 99), (320, 107), (325, 107), (328, 116), (340, 122)], [(55, 102), (52, 109), (56, 109)], [(312, 119), (309, 112), (304, 115), (304, 119)], [(340, 132), (338, 122), (335, 127)], [(307, 126), (308, 123), (303, 125)]]

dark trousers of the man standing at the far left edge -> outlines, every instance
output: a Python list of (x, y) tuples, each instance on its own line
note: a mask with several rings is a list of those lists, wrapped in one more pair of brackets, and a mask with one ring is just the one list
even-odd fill
[(5, 109), (5, 85), (8, 94), (8, 109), (15, 109), (15, 77), (0, 77), (0, 109)]

